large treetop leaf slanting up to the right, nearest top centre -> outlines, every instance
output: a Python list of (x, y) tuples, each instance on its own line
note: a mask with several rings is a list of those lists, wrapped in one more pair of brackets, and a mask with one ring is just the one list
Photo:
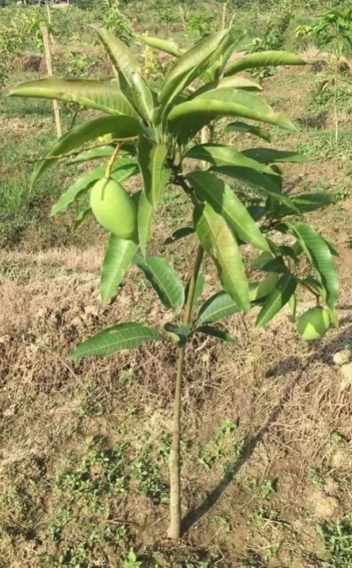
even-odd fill
[(171, 103), (195, 78), (198, 78), (223, 52), (228, 43), (228, 30), (220, 31), (204, 39), (183, 53), (176, 65), (166, 75), (159, 102), (162, 107)]

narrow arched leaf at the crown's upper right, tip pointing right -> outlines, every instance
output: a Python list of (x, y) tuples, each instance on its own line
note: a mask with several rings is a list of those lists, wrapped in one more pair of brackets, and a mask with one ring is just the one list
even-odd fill
[(260, 53), (249, 53), (225, 69), (225, 77), (233, 75), (239, 71), (253, 69), (257, 67), (277, 67), (277, 65), (306, 65), (300, 57), (288, 51), (260, 51)]

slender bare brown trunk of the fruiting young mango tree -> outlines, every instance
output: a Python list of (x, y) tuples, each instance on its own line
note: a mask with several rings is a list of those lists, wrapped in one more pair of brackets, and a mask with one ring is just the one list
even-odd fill
[[(187, 301), (184, 309), (183, 323), (187, 325), (191, 321), (194, 293), (199, 270), (203, 261), (203, 248), (198, 246), (196, 261), (194, 262), (193, 272), (188, 286)], [(186, 346), (178, 347), (176, 386), (174, 396), (174, 424), (172, 443), (170, 448), (169, 470), (170, 470), (170, 526), (168, 537), (178, 540), (181, 537), (181, 394), (182, 377), (185, 360)]]

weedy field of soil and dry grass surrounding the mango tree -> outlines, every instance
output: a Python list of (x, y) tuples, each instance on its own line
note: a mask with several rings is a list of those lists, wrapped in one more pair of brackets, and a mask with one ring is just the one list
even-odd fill
[[(230, 23), (234, 10), (235, 26), (247, 30), (236, 51), (288, 50), (306, 62), (240, 74), (260, 83), (259, 96), (295, 130), (260, 125), (262, 140), (240, 127), (220, 134), (220, 121), (215, 134), (238, 151), (260, 147), (306, 158), (279, 163), (282, 191), (293, 198), (329, 194), (329, 206), (311, 207), (304, 220), (338, 252), (339, 325), (306, 342), (288, 304), (256, 327), (259, 305), (221, 322), (220, 332), (234, 342), (191, 336), (182, 399), (182, 535), (170, 540), (176, 345), (150, 342), (80, 360), (68, 353), (107, 326), (138, 321), (160, 329), (172, 314), (137, 265), (116, 298), (102, 303), (107, 232), (92, 216), (82, 219), (87, 194), (50, 216), (60, 194), (109, 157), (78, 162), (73, 152), (72, 164), (58, 159), (30, 189), (33, 168), (55, 142), (53, 105), (7, 95), (46, 75), (41, 23), (48, 12), (0, 1), (0, 568), (352, 567), (352, 58), (345, 41), (352, 15), (343, 12), (337, 43), (329, 43), (328, 28), (320, 35), (314, 28), (320, 3), (303, 2), (294, 13), (284, 1), (247, 4), (80, 0), (50, 8), (55, 76), (114, 80), (95, 23), (129, 44), (158, 90), (174, 62), (140, 34), (183, 50)], [(63, 132), (100, 115), (60, 102)], [(102, 152), (111, 150), (109, 140), (100, 142)], [(137, 175), (125, 186), (134, 194), (141, 184)], [(236, 179), (231, 189), (260, 202), (252, 185)], [(185, 284), (196, 236), (165, 240), (192, 223), (188, 196), (167, 186), (148, 251), (166, 258)], [(220, 290), (210, 258), (204, 264), (199, 305)], [(311, 275), (308, 262), (302, 270)], [(256, 276), (252, 267), (248, 278)], [(298, 295), (299, 315), (316, 307), (308, 291)]]

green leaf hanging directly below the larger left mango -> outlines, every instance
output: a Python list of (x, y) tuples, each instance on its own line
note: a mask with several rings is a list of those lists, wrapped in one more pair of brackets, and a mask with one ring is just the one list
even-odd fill
[(100, 295), (103, 302), (110, 302), (116, 295), (117, 287), (132, 263), (136, 251), (137, 243), (134, 241), (125, 241), (116, 235), (110, 235), (100, 279)]

